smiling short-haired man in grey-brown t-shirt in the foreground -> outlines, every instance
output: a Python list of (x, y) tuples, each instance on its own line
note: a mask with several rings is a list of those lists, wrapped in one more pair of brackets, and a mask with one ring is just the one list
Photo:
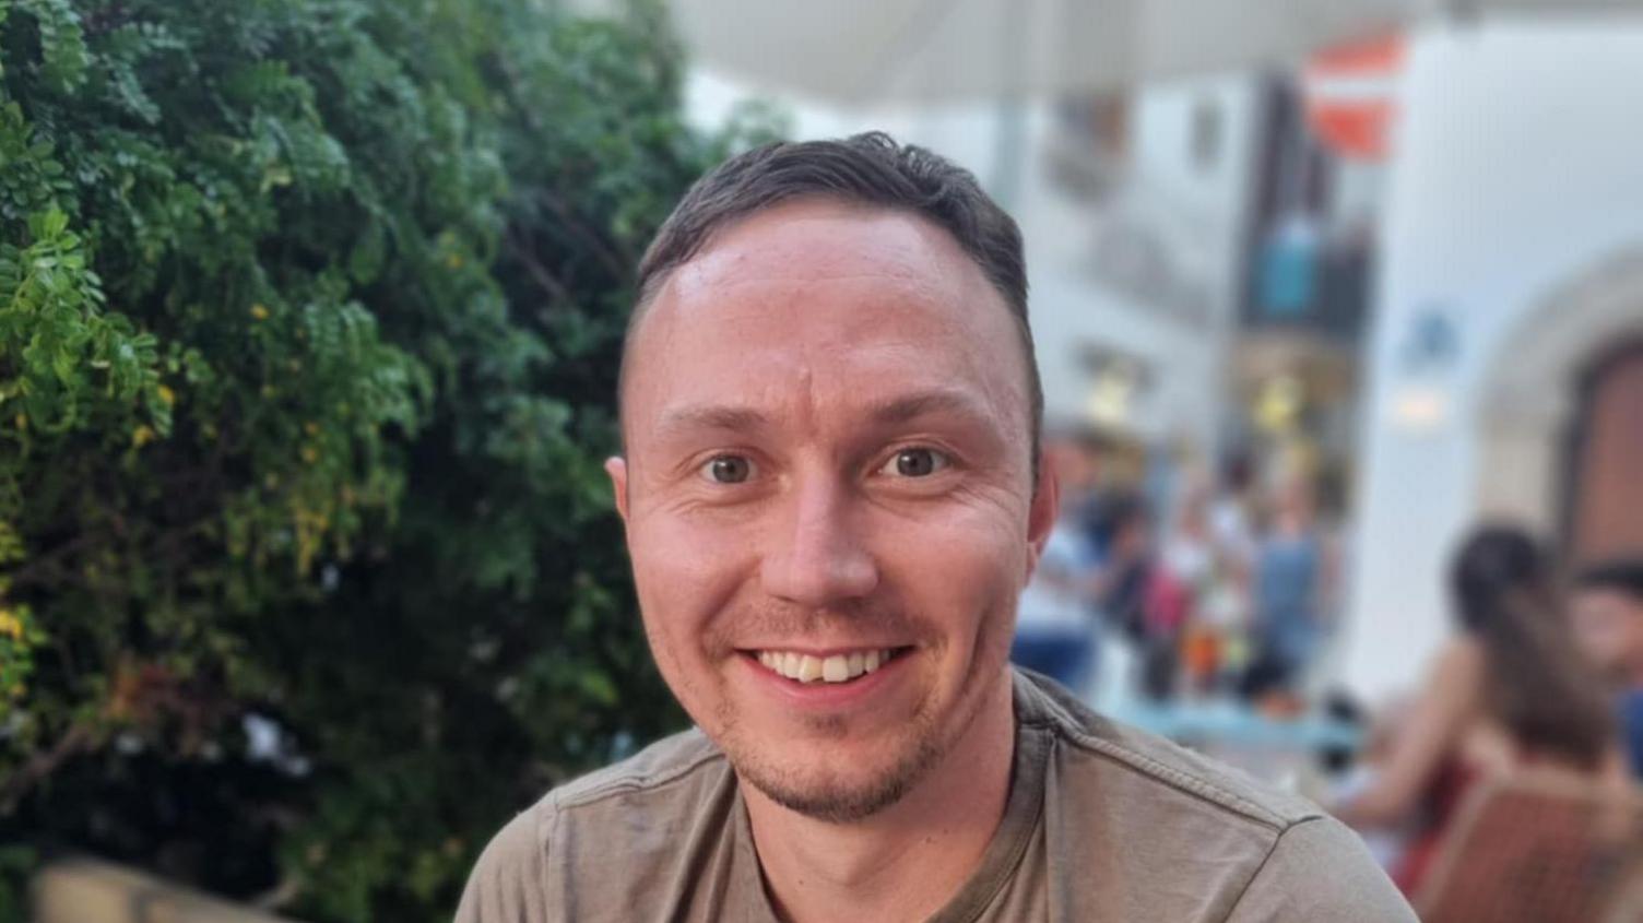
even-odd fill
[(1009, 668), (1056, 484), (974, 177), (766, 146), (639, 282), (606, 470), (698, 729), (519, 815), (458, 920), (1413, 920), (1311, 805)]

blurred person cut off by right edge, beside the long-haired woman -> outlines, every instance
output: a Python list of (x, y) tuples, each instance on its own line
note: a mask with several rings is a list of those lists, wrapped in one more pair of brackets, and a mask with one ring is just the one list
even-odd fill
[(1594, 565), (1576, 578), (1574, 637), (1620, 685), (1620, 729), (1631, 772), (1643, 777), (1643, 558)]

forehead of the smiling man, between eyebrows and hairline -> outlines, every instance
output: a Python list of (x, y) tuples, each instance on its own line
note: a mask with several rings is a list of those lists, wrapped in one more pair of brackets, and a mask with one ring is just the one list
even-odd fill
[(951, 235), (902, 212), (810, 200), (752, 215), (664, 281), (633, 337), (629, 424), (682, 402), (789, 412), (940, 388), (1025, 425), (1002, 296)]

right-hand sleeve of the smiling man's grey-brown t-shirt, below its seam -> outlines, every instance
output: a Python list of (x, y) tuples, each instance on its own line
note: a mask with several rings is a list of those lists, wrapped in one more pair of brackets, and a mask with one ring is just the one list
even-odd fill
[(1418, 923), (1351, 828), (1300, 821), (1278, 836), (1227, 923)]

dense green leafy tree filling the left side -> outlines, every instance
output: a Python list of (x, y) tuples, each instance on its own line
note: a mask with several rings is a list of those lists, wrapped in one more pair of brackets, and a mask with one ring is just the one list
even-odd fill
[(757, 131), (660, 23), (0, 0), (0, 843), (444, 920), (679, 724), (600, 460), (639, 251)]

